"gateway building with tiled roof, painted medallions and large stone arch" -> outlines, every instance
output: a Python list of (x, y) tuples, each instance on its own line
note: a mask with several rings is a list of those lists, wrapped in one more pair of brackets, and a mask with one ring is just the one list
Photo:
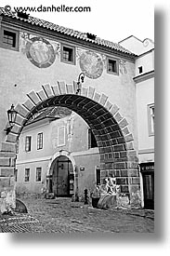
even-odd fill
[[(137, 55), (93, 34), (4, 8), (0, 8), (0, 29), (0, 204), (7, 200), (15, 203), (16, 145), (29, 127), (27, 123), (33, 115), (55, 106), (67, 107), (75, 116), (80, 115), (93, 132), (99, 157), (94, 166), (100, 168), (101, 182), (115, 177), (129, 203), (140, 204)], [(80, 74), (85, 75), (84, 81)], [(7, 120), (11, 104), (17, 112), (12, 126)], [(80, 140), (84, 134), (81, 128), (78, 130)], [(27, 140), (29, 144), (30, 139)], [(68, 150), (68, 154), (73, 152)], [(59, 156), (63, 162), (68, 157), (66, 153), (53, 152), (52, 160)], [(86, 162), (91, 161), (89, 155), (85, 157)], [(68, 165), (70, 161), (73, 163), (70, 159)], [(87, 177), (85, 163), (79, 167), (82, 170), (72, 168), (77, 192), (80, 177)], [(38, 173), (40, 169), (37, 177)], [(27, 174), (29, 177), (29, 171)], [(50, 175), (49, 172), (47, 182)]]

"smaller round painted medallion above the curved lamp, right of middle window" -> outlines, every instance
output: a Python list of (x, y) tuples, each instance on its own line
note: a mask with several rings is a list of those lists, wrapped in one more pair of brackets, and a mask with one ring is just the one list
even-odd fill
[(82, 72), (89, 78), (97, 79), (103, 72), (103, 61), (95, 52), (83, 52), (79, 63)]

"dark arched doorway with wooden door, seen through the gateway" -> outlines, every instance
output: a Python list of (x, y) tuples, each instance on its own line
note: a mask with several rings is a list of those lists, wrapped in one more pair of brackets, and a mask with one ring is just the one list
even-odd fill
[(52, 191), (56, 196), (72, 196), (74, 194), (72, 161), (65, 155), (55, 159), (52, 170)]

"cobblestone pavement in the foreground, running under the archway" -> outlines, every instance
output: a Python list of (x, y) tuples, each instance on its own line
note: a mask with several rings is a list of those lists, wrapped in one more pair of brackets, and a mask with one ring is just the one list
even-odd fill
[(0, 232), (152, 233), (154, 212), (144, 209), (94, 209), (71, 198), (21, 198), (28, 213), (0, 215)]

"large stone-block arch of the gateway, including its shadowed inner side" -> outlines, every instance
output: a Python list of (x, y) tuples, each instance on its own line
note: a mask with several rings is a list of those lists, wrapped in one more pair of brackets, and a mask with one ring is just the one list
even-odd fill
[(28, 100), (16, 106), (18, 114), (15, 126), (7, 134), (6, 141), (2, 142), (0, 152), (0, 182), (5, 197), (14, 195), (16, 141), (22, 128), (38, 111), (59, 105), (82, 116), (92, 129), (98, 143), (101, 182), (108, 176), (115, 177), (116, 183), (121, 186), (121, 192), (129, 195), (131, 205), (138, 203), (137, 153), (126, 119), (120, 114), (119, 107), (112, 104), (105, 94), (100, 95), (91, 87), (83, 87), (76, 94), (76, 89), (75, 82), (72, 85), (64, 82), (58, 82), (55, 86), (46, 84), (38, 92), (32, 90), (27, 94)]

